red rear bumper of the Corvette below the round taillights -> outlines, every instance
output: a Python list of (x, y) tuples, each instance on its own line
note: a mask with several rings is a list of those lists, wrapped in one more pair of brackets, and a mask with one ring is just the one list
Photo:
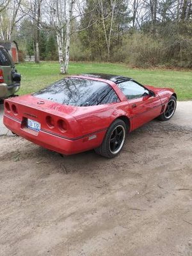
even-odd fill
[(10, 131), (25, 138), (26, 140), (65, 155), (76, 154), (99, 147), (104, 135), (106, 134), (106, 129), (103, 129), (102, 131), (95, 132), (94, 134), (88, 134), (81, 138), (67, 139), (60, 135), (51, 134), (51, 132), (42, 130), (34, 132), (28, 127), (22, 128), (22, 123), (19, 120), (8, 115), (3, 116), (3, 123), (8, 129), (10, 129)]

